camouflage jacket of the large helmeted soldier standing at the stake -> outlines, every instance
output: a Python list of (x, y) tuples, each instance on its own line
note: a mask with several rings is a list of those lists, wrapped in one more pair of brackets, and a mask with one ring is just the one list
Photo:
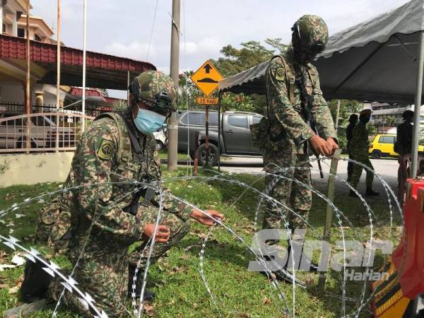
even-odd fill
[[(300, 67), (305, 72), (306, 93), (312, 99), (312, 116), (314, 117), (319, 136), (324, 139), (336, 139), (333, 119), (322, 96), (319, 86), (318, 71), (312, 64)], [(279, 141), (268, 139), (263, 143), (264, 153), (298, 153), (305, 151), (305, 142), (314, 135), (310, 126), (300, 114), (301, 92), (295, 85), (293, 48), (289, 48), (282, 56), (274, 57), (266, 69), (266, 95), (269, 107), (269, 126), (271, 136), (281, 133)], [(264, 119), (263, 122), (265, 122)], [(264, 129), (265, 124), (261, 124)], [(268, 126), (268, 124), (266, 124)]]

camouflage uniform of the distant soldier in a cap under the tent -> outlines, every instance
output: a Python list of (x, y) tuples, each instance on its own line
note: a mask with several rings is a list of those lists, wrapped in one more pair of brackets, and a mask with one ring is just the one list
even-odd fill
[[(372, 170), (374, 170), (370, 158), (368, 158), (368, 131), (366, 124), (363, 122), (358, 122), (358, 124), (355, 126), (355, 129), (353, 129), (353, 137), (350, 147), (353, 160), (359, 161), (360, 163), (363, 163), (363, 165), (366, 165), (367, 167), (370, 167)], [(360, 165), (353, 165), (353, 172), (351, 177), (352, 187), (356, 188), (358, 186), (362, 170), (363, 167)], [(374, 174), (367, 170), (367, 178), (365, 179), (367, 188), (372, 187), (373, 180)]]

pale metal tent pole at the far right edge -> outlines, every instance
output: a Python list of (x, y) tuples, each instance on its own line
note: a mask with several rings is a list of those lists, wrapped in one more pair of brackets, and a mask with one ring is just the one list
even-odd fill
[(418, 139), (420, 133), (421, 94), (423, 93), (423, 67), (424, 67), (424, 33), (420, 33), (418, 48), (418, 76), (415, 109), (413, 112), (413, 138), (412, 138), (412, 177), (417, 176), (418, 169)]

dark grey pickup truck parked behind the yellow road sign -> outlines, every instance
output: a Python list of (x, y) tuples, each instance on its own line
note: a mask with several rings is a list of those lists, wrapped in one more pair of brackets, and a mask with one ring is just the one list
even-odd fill
[[(262, 115), (254, 112), (223, 112), (221, 114), (220, 153), (226, 155), (261, 155), (253, 146), (250, 125), (257, 124)], [(178, 121), (178, 151), (194, 159), (196, 139), (199, 140), (199, 165), (206, 160), (206, 112), (180, 112)], [(218, 112), (209, 112), (209, 163), (218, 163)]]

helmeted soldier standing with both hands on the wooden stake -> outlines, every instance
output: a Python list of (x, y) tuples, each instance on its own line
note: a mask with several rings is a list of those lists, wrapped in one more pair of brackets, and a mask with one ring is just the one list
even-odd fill
[[(318, 155), (330, 156), (334, 148), (338, 148), (333, 119), (319, 87), (318, 72), (310, 64), (324, 51), (328, 29), (322, 18), (308, 15), (296, 21), (292, 30), (292, 44), (287, 52), (273, 57), (266, 69), (268, 116), (252, 127), (252, 134), (256, 134), (254, 139), (261, 144), (266, 172), (298, 179), (310, 186), (309, 149)], [(293, 169), (281, 172), (291, 167)], [(265, 182), (269, 195), (290, 206), (298, 215), (282, 211), (290, 228), (306, 228), (305, 220), (312, 205), (310, 190), (290, 179), (270, 175)], [(268, 206), (263, 228), (285, 228), (281, 211)], [(276, 243), (269, 242), (269, 245)], [(274, 273), (278, 279), (290, 281), (283, 271)]]

